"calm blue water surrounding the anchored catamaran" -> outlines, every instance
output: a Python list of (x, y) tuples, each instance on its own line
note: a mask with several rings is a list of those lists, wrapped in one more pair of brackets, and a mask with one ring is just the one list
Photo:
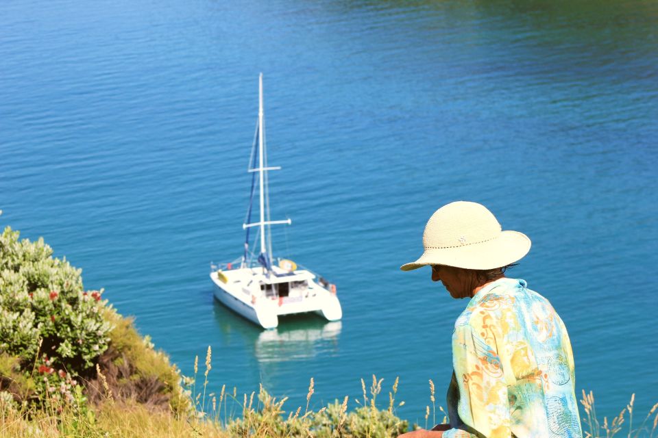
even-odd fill
[[(0, 225), (43, 236), (191, 374), (303, 404), (400, 376), (424, 424), (450, 378), (452, 300), (424, 270), (439, 206), (533, 240), (576, 387), (658, 401), (658, 5), (651, 1), (0, 3)], [(275, 252), (337, 283), (341, 324), (265, 332), (212, 298), (241, 254), (265, 75)], [(384, 397), (387, 398), (387, 397)], [(351, 407), (356, 406), (351, 402)]]

